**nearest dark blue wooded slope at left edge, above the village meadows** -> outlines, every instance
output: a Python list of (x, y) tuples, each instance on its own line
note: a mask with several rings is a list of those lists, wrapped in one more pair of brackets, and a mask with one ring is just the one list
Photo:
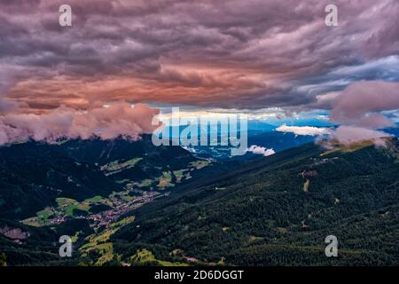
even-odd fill
[(31, 216), (57, 197), (83, 200), (121, 190), (94, 164), (77, 162), (57, 146), (28, 142), (0, 147), (0, 217)]

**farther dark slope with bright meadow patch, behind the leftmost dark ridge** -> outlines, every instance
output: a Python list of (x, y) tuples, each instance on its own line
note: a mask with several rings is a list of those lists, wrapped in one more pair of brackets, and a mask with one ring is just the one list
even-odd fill
[(79, 162), (98, 165), (107, 177), (123, 185), (157, 178), (165, 171), (185, 169), (190, 162), (197, 161), (180, 146), (153, 146), (150, 135), (137, 141), (69, 140), (59, 150)]

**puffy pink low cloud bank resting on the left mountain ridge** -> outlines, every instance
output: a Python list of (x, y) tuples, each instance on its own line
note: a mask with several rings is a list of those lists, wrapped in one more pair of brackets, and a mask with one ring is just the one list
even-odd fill
[(137, 140), (159, 126), (153, 125), (157, 114), (158, 109), (144, 104), (132, 107), (125, 102), (85, 112), (60, 106), (48, 114), (5, 114), (0, 115), (0, 145), (28, 139), (51, 142), (59, 138), (121, 136)]

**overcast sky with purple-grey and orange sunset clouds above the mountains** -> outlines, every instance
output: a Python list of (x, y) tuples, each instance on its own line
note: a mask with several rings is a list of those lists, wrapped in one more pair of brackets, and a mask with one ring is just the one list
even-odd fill
[(379, 130), (397, 122), (398, 90), (395, 0), (0, 0), (3, 137), (21, 115), (123, 103)]

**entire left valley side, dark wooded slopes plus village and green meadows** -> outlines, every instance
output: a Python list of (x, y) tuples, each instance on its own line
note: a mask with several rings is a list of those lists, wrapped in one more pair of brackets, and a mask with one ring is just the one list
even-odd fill
[[(82, 248), (90, 259), (135, 209), (206, 166), (179, 146), (153, 146), (149, 136), (2, 146), (0, 256), (9, 265), (78, 264)], [(72, 259), (59, 257), (65, 234), (74, 240)], [(98, 264), (113, 260), (104, 257)]]

